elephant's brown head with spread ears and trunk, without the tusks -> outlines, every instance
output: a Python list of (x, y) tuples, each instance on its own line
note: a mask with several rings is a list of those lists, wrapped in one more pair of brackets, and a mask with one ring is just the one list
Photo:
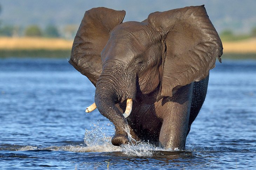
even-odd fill
[[(125, 22), (124, 11), (93, 8), (76, 34), (70, 64), (96, 86), (95, 103), (113, 122), (113, 145), (127, 143), (123, 102), (154, 102), (200, 81), (222, 54), (221, 40), (204, 6), (155, 12)], [(161, 101), (160, 101), (161, 102)]]

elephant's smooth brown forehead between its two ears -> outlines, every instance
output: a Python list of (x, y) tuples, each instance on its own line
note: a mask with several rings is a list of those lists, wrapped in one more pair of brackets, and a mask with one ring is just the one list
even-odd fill
[(103, 49), (102, 61), (120, 59), (129, 62), (135, 56), (143, 53), (150, 43), (147, 25), (140, 22), (125, 22), (115, 27)]

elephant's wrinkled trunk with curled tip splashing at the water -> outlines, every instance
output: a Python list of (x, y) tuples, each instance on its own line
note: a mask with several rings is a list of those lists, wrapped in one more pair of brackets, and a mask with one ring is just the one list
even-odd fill
[[(127, 135), (128, 123), (123, 116), (123, 112), (121, 112), (115, 104), (129, 98), (127, 103), (128, 106), (131, 107), (130, 99), (135, 98), (136, 86), (134, 86), (135, 82), (132, 83), (129, 81), (129, 84), (131, 84), (133, 88), (130, 86), (127, 87), (121, 83), (123, 81), (117, 81), (117, 77), (121, 77), (118, 76), (118, 73), (106, 72), (107, 71), (103, 70), (99, 80), (97, 81), (95, 104), (99, 112), (114, 124), (115, 136), (112, 138), (112, 144), (119, 146), (129, 142)], [(129, 111), (130, 110), (128, 109), (127, 112), (129, 113)]]

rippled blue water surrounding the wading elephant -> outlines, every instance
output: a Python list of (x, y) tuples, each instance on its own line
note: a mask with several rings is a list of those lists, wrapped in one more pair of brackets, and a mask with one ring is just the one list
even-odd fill
[(0, 169), (256, 168), (256, 61), (210, 71), (186, 150), (111, 145), (94, 93), (67, 59), (0, 59)]

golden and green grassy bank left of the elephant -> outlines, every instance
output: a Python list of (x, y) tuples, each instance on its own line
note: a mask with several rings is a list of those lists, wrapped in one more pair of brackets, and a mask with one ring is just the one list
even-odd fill
[(69, 58), (73, 40), (39, 37), (0, 37), (0, 57)]

